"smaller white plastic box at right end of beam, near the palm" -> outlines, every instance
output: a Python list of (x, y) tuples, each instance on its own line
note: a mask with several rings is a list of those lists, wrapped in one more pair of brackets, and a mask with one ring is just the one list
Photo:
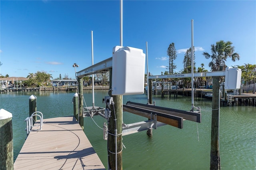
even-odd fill
[(240, 89), (242, 71), (238, 68), (226, 67), (225, 69), (225, 90)]

